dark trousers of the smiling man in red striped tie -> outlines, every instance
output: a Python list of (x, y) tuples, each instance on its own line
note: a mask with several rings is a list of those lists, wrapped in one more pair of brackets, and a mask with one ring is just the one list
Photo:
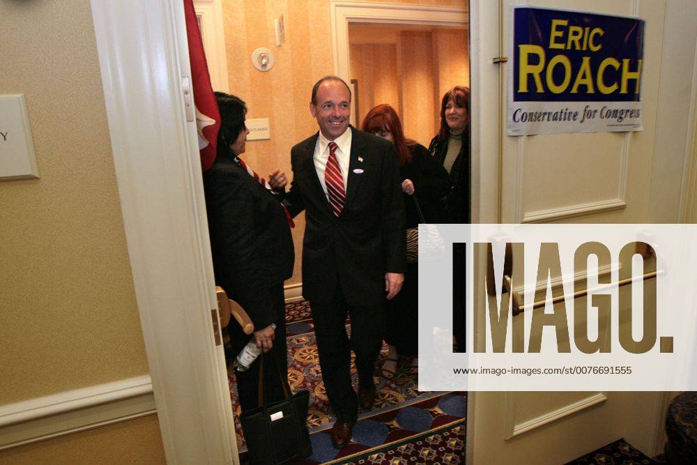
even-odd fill
[[(353, 421), (358, 415), (358, 397), (351, 386), (351, 349), (358, 383), (369, 386), (374, 382), (375, 361), (382, 346), (383, 305), (348, 305), (337, 287), (334, 302), (310, 302), (310, 309), (327, 397), (339, 422)], [(346, 334), (347, 313), (351, 319), (350, 340)]]

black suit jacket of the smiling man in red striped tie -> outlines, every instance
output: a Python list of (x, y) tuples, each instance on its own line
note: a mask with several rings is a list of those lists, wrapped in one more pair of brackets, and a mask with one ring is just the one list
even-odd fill
[(404, 273), (406, 268), (404, 199), (395, 146), (355, 128), (351, 131), (346, 204), (338, 218), (314, 167), (319, 133), (291, 150), (293, 183), (285, 202), (292, 215), (305, 210), (302, 295), (310, 302), (331, 303), (340, 280), (349, 305), (380, 303), (385, 273)]

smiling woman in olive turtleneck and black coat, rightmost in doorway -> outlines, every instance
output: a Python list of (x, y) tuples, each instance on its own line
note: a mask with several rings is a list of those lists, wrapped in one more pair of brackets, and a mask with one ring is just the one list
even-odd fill
[(450, 175), (447, 222), (470, 222), (470, 89), (454, 86), (441, 101), (441, 128), (431, 140), (429, 153)]

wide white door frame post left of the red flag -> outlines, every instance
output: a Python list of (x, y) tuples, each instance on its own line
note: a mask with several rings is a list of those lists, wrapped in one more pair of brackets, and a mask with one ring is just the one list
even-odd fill
[(168, 464), (237, 464), (181, 0), (91, 0), (114, 167)]

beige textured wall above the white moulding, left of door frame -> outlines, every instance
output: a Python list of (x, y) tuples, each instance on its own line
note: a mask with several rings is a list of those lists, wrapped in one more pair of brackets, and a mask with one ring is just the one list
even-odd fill
[[(146, 374), (89, 0), (0, 3), (40, 179), (0, 183), (0, 404)], [(11, 63), (11, 65), (10, 65)]]

